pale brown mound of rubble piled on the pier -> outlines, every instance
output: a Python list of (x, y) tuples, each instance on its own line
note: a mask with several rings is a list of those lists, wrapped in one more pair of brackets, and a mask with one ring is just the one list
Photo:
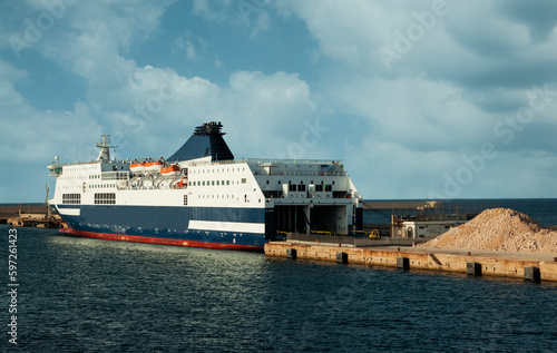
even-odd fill
[(557, 232), (519, 212), (491, 208), (421, 246), (556, 254)]

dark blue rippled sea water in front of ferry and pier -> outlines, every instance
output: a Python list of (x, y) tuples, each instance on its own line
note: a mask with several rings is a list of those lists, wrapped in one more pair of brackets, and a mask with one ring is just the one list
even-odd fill
[[(36, 228), (16, 229), (11, 282), (10, 229), (0, 226), (0, 346), (8, 352), (557, 351), (554, 283)], [(17, 345), (9, 342), (10, 283), (18, 284)]]

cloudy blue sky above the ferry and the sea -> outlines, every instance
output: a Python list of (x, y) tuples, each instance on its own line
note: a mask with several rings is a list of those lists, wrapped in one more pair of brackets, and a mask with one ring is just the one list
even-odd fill
[(47, 165), (169, 157), (204, 121), (242, 157), (342, 159), (367, 199), (557, 197), (557, 2), (2, 1), (0, 203)]

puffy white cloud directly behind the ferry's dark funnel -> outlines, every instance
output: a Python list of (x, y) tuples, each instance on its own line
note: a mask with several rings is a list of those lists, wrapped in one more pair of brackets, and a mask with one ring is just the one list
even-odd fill
[[(287, 154), (289, 144), (299, 140), (293, 131), (299, 131), (304, 119), (313, 121), (314, 114), (307, 84), (285, 72), (238, 71), (227, 86), (219, 87), (169, 69), (138, 68), (121, 92), (135, 97), (135, 106), (123, 105), (118, 111), (105, 114), (120, 139), (130, 144), (127, 150), (120, 149), (128, 155), (169, 156), (194, 126), (208, 120), (223, 121), (233, 153), (274, 156), (280, 149)], [(150, 144), (144, 146), (149, 136)]]

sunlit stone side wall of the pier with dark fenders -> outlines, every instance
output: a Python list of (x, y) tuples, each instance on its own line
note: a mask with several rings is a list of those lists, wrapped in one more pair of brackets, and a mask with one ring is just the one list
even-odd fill
[[(470, 273), (469, 271), (471, 271), (470, 274), (476, 276), (502, 276), (557, 282), (557, 257), (554, 255), (469, 252), (402, 246), (373, 248), (342, 247), (341, 249), (339, 246), (307, 245), (289, 242), (265, 244), (266, 256), (287, 257), (287, 249), (290, 249), (289, 252), (295, 251), (295, 258), (299, 259), (339, 262), (338, 254), (342, 252), (345, 253), (345, 255), (342, 255), (344, 257), (342, 263), (348, 264), (462, 274)], [(472, 265), (469, 265), (470, 263)], [(531, 275), (531, 268), (536, 268), (534, 269), (534, 276)]]

